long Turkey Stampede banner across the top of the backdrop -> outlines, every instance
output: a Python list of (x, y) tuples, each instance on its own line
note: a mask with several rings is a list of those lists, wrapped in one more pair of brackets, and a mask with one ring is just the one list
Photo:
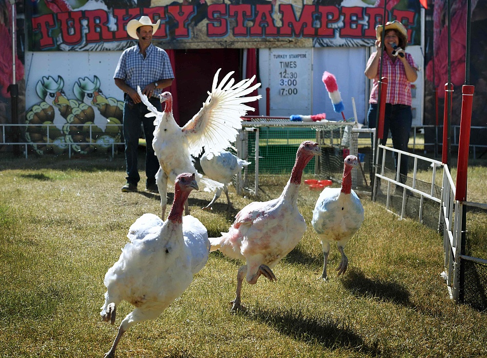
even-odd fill
[[(30, 51), (124, 50), (134, 43), (127, 35), (127, 23), (141, 15), (161, 20), (153, 43), (166, 49), (372, 46), (383, 16), (382, 7), (362, 0), (347, 1), (360, 6), (327, 4), (336, 4), (333, 0), (211, 5), (205, 0), (182, 3), (191, 5), (159, 0), (151, 2), (158, 6), (133, 8), (117, 8), (113, 0), (114, 7), (103, 0), (88, 0), (75, 8), (71, 1), (28, 2)], [(405, 25), (411, 44), (419, 43), (419, 8), (390, 8), (387, 14)]]

